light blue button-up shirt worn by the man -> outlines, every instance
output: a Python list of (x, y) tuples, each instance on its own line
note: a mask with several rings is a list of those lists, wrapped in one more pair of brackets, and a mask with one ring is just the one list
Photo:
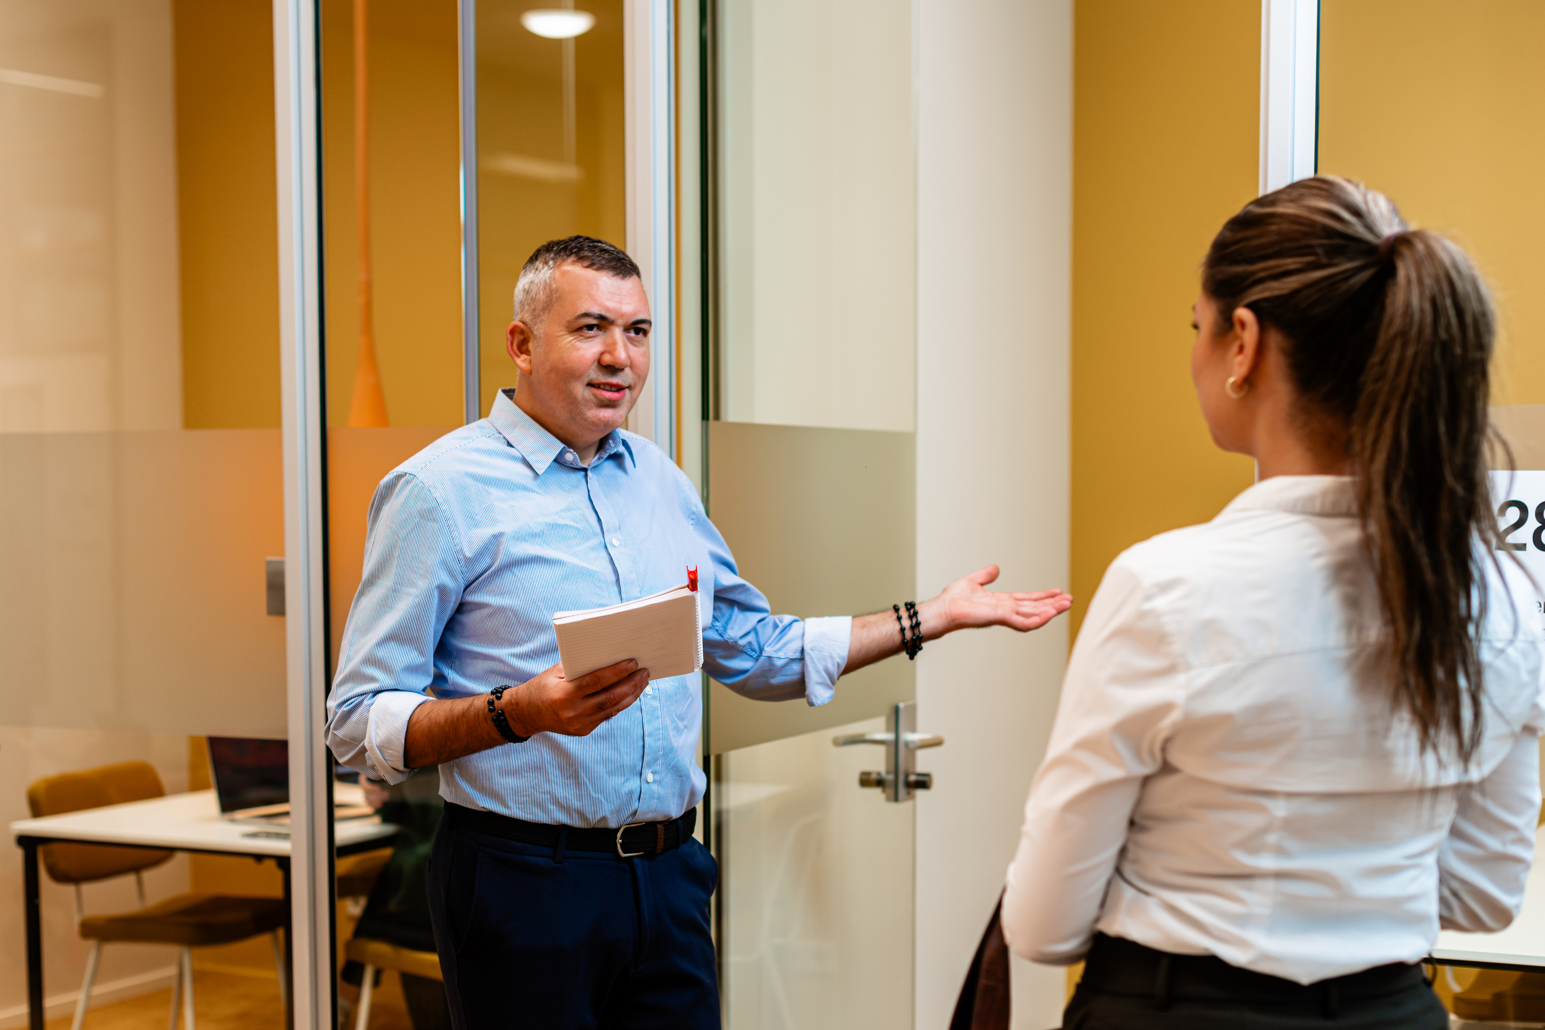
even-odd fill
[[(615, 431), (586, 468), (513, 394), (375, 490), (328, 698), (328, 746), (341, 763), (402, 781), (419, 704), (530, 679), (558, 661), (553, 612), (675, 587), (688, 565), (715, 679), (757, 700), (831, 700), (851, 619), (772, 615), (654, 443)], [(703, 797), (700, 723), (697, 675), (655, 679), (589, 737), (538, 734), (440, 766), (440, 794), (564, 826), (674, 818)]]

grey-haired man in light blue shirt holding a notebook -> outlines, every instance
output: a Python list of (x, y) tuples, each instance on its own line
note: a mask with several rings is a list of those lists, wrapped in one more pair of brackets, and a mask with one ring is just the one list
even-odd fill
[[(810, 704), (901, 652), (902, 630), (891, 612), (772, 615), (691, 480), (623, 431), (650, 329), (626, 253), (584, 236), (544, 244), (514, 315), (519, 389), (375, 491), (328, 744), (389, 783), (440, 767), (430, 906), (457, 1030), (718, 1027), (717, 868), (691, 835), (698, 678), (650, 683), (624, 661), (567, 679), (552, 615), (675, 587), (695, 565), (708, 672)], [(1027, 632), (1071, 604), (1060, 590), (990, 593), (997, 574), (919, 604), (921, 639)]]

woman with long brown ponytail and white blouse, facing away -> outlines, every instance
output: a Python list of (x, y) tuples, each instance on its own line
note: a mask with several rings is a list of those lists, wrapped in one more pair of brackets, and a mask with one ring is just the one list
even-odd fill
[(1111, 564), (1003, 930), (1086, 961), (1068, 1030), (1438, 1030), (1438, 928), (1523, 902), (1534, 587), (1488, 490), (1494, 313), (1469, 258), (1318, 176), (1213, 239), (1191, 378), (1259, 482)]

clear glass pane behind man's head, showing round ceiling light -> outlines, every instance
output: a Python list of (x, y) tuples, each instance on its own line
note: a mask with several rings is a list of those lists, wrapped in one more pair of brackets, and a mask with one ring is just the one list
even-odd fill
[[(624, 239), (623, 3), (581, 0), (593, 25), (522, 22), (524, 0), (477, 5), (482, 409), (514, 386), (504, 349), (521, 266), (548, 239)], [(547, 6), (547, 5), (541, 5)], [(553, 5), (559, 6), (559, 5)], [(562, 20), (561, 12), (555, 17)], [(530, 20), (530, 19), (525, 19)], [(559, 36), (555, 36), (559, 34)]]

